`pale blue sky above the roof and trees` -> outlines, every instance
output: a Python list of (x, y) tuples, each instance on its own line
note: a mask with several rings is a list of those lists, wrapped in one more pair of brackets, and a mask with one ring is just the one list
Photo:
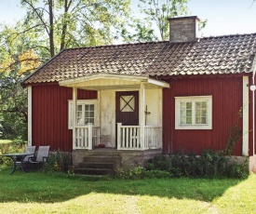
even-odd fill
[[(132, 1), (136, 4), (138, 0)], [(1, 0), (0, 22), (14, 24), (22, 18), (25, 14), (19, 3), (20, 0)], [(191, 16), (208, 20), (203, 36), (256, 33), (255, 0), (190, 0), (188, 8)]]

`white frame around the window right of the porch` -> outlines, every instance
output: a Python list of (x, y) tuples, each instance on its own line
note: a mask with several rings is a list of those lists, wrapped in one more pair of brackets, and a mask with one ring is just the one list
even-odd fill
[[(207, 101), (207, 124), (195, 124), (196, 101)], [(192, 102), (192, 124), (181, 124), (181, 102)], [(212, 129), (212, 96), (175, 97), (175, 129)]]

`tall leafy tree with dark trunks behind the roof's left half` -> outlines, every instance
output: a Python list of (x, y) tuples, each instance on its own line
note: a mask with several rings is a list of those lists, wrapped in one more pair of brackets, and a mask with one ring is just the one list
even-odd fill
[[(66, 47), (111, 44), (128, 17), (130, 0), (20, 0), (24, 33), (36, 29), (50, 57)], [(117, 31), (118, 32), (118, 31)]]

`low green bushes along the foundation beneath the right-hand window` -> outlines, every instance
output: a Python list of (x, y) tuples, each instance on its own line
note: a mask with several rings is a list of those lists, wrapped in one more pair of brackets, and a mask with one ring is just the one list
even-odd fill
[(183, 152), (161, 154), (148, 161), (146, 170), (145, 174), (155, 175), (155, 178), (159, 171), (168, 172), (169, 177), (191, 178), (246, 178), (249, 175), (248, 159), (238, 162), (231, 156), (211, 150), (204, 151), (200, 156)]

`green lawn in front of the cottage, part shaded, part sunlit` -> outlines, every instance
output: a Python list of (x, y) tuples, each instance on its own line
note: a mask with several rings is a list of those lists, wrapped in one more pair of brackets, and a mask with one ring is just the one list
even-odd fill
[(0, 168), (0, 213), (256, 213), (247, 180), (89, 180)]

